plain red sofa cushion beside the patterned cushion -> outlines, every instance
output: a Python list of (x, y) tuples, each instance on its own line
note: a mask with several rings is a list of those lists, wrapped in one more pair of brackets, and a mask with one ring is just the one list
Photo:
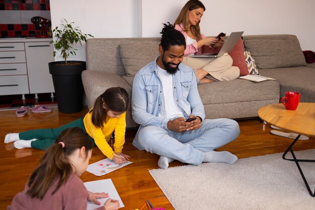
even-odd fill
[(229, 53), (229, 56), (233, 59), (232, 66), (237, 66), (240, 69), (240, 76), (248, 75), (248, 68), (244, 59), (244, 44), (242, 39), (240, 38), (238, 43)]

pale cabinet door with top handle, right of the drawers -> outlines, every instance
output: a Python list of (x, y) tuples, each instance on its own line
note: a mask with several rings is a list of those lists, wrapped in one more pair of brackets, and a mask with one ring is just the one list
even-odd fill
[(25, 43), (30, 93), (54, 92), (48, 63), (54, 61), (53, 47), (49, 42)]

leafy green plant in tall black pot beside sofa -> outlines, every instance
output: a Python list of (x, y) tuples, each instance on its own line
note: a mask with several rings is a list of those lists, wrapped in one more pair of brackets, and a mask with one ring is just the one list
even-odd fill
[(83, 109), (83, 84), (81, 73), (86, 69), (85, 61), (69, 61), (70, 55), (76, 55), (75, 44), (86, 42), (90, 34), (83, 34), (78, 27), (73, 27), (74, 22), (57, 26), (52, 31), (54, 40), (51, 42), (54, 46), (53, 56), (56, 57), (57, 51), (60, 51), (60, 58), (63, 61), (54, 61), (48, 63), (49, 73), (52, 75), (52, 81), (57, 97), (58, 110), (61, 113), (76, 113)]

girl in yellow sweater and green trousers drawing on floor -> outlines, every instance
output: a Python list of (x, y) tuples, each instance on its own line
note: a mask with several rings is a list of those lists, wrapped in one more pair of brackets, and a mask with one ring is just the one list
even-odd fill
[[(93, 146), (98, 148), (116, 164), (129, 160), (122, 153), (125, 143), (126, 110), (129, 95), (122, 87), (111, 87), (101, 94), (89, 113), (78, 120), (54, 129), (37, 129), (21, 133), (7, 134), (5, 143), (14, 142), (17, 149), (37, 148), (46, 150), (66, 128), (83, 128), (90, 136)], [(114, 151), (107, 143), (115, 131)]]

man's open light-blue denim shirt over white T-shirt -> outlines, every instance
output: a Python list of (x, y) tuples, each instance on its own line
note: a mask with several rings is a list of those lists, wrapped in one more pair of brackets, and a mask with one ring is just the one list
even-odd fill
[[(157, 126), (168, 129), (169, 120), (159, 116), (163, 97), (162, 82), (156, 74), (156, 59), (136, 73), (132, 85), (132, 118), (140, 125), (132, 144), (139, 150), (143, 147), (138, 142), (138, 133), (145, 126)], [(196, 76), (193, 69), (180, 63), (178, 71), (173, 74), (174, 96), (185, 118), (189, 115), (205, 118), (204, 107), (197, 89)], [(171, 91), (171, 90), (170, 90)], [(167, 98), (165, 98), (167, 100)]]

